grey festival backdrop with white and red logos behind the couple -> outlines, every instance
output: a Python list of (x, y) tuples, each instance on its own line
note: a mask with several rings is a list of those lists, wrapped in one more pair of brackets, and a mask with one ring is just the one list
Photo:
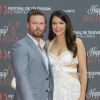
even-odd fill
[[(0, 100), (13, 100), (11, 46), (26, 35), (31, 9), (43, 10), (47, 21), (54, 10), (69, 15), (87, 50), (87, 100), (100, 100), (100, 0), (0, 0)], [(47, 34), (48, 28), (45, 38)]]

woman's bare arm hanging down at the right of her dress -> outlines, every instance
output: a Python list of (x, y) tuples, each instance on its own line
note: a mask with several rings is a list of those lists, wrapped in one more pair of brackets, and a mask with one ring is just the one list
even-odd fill
[(81, 83), (81, 95), (79, 100), (85, 100), (86, 87), (87, 87), (87, 67), (86, 67), (86, 51), (81, 39), (76, 39), (77, 55), (79, 59), (79, 72)]

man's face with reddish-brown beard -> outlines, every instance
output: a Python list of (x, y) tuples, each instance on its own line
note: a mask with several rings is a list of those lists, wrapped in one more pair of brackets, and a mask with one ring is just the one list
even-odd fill
[(40, 38), (45, 31), (46, 23), (42, 15), (32, 15), (27, 23), (29, 34), (36, 38)]

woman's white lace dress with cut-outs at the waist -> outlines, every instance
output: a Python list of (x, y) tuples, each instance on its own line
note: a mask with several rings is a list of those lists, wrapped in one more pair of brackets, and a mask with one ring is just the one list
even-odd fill
[[(49, 45), (49, 48), (51, 45)], [(73, 58), (70, 51), (63, 52), (56, 57), (48, 49), (50, 64), (54, 78), (54, 94), (53, 100), (78, 100), (80, 96), (80, 82), (69, 73), (77, 73), (77, 68), (73, 68), (71, 64), (78, 64), (78, 59)]]

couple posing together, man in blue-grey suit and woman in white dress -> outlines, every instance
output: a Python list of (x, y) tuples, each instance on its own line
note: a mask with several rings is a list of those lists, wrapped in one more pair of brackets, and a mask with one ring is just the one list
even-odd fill
[(46, 29), (43, 12), (29, 11), (26, 25), (27, 35), (12, 49), (14, 100), (85, 100), (86, 51), (67, 14), (51, 14), (46, 42), (41, 38)]

